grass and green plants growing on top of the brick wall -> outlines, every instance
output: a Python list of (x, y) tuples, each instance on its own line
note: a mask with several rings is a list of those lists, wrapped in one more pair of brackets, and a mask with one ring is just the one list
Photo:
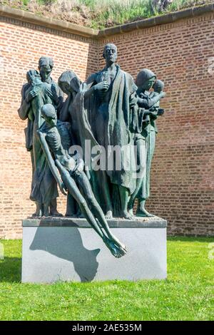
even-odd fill
[(173, 0), (161, 12), (157, 6), (153, 6), (153, 0), (0, 0), (0, 4), (8, 4), (94, 29), (125, 24), (210, 2), (213, 0)]

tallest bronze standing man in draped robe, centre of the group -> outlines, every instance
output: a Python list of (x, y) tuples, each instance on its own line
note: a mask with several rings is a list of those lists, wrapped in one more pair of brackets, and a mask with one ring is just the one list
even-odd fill
[[(135, 163), (130, 161), (128, 150), (121, 149), (132, 144), (130, 115), (136, 101), (136, 85), (131, 75), (116, 64), (117, 48), (114, 44), (106, 44), (103, 57), (106, 60), (105, 68), (86, 81), (91, 86), (103, 83), (93, 94), (87, 108), (93, 134), (98, 144), (106, 150), (106, 168), (92, 172), (93, 190), (108, 219), (112, 219), (113, 215), (131, 219), (127, 206), (136, 187), (131, 171)], [(110, 170), (108, 167), (115, 146), (119, 147), (116, 159), (121, 163), (120, 170), (115, 167)], [(129, 169), (126, 168), (127, 162)]]

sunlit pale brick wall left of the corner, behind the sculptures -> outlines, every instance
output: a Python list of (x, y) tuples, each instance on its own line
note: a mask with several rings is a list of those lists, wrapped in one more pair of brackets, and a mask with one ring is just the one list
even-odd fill
[[(37, 68), (40, 56), (54, 58), (52, 78), (72, 69), (84, 80), (96, 71), (97, 43), (32, 24), (0, 21), (0, 237), (21, 237), (21, 219), (34, 212), (29, 200), (31, 158), (25, 149), (26, 121), (19, 119), (21, 87), (26, 71)], [(58, 209), (64, 212), (66, 197)]]

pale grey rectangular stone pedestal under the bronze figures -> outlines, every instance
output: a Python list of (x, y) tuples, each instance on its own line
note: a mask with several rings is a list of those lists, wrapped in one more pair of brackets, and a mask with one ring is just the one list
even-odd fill
[(84, 219), (23, 220), (22, 282), (91, 282), (166, 278), (166, 221), (109, 220), (128, 246), (116, 259)]

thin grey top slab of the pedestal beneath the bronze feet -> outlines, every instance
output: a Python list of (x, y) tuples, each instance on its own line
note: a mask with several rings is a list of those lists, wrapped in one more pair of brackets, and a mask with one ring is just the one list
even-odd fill
[[(138, 220), (126, 220), (119, 217), (107, 220), (111, 228), (165, 228), (166, 220), (161, 217), (138, 217)], [(91, 228), (86, 219), (76, 217), (46, 217), (22, 220), (23, 227), (78, 227)]]

